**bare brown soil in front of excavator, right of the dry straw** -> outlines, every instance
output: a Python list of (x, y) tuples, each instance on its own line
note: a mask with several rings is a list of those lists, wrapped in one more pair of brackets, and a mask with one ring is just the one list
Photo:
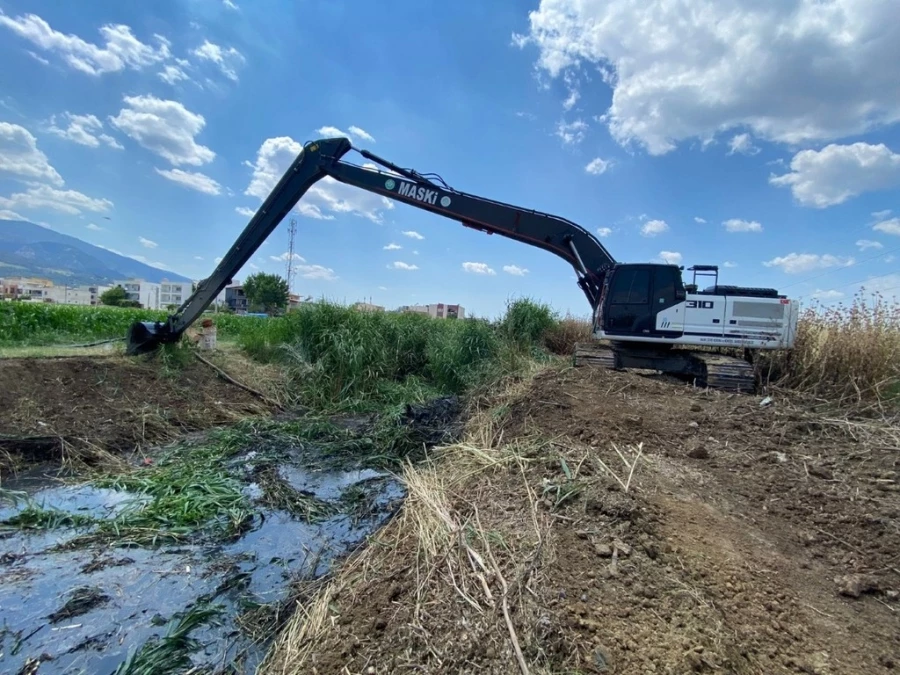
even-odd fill
[[(633, 569), (604, 578), (602, 605), (568, 607), (584, 637), (603, 627), (618, 672), (658, 672), (655, 663), (874, 673), (900, 663), (896, 427), (760, 403), (578, 369), (544, 374), (512, 407), (520, 434), (603, 456), (642, 444), (635, 497), (651, 527), (628, 540)], [(585, 593), (596, 546), (572, 528), (560, 536), (559, 573)]]

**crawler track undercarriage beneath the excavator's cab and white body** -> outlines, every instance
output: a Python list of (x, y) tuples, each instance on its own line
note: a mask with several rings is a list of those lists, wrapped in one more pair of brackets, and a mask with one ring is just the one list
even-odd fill
[(610, 370), (642, 368), (686, 378), (695, 386), (720, 391), (750, 393), (756, 387), (753, 366), (733, 356), (676, 350), (636, 354), (590, 342), (575, 345), (575, 367), (590, 366)]

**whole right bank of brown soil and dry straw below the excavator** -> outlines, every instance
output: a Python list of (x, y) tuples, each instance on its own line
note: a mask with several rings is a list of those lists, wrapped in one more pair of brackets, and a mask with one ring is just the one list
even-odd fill
[(470, 429), (487, 453), (412, 486), (388, 552), (269, 672), (897, 672), (896, 418), (762, 403), (545, 371)]

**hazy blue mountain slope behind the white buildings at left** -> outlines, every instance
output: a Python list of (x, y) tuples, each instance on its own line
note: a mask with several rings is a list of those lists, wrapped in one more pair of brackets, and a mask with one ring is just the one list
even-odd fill
[(0, 278), (41, 277), (55, 284), (111, 284), (123, 279), (190, 281), (134, 258), (25, 220), (0, 220)]

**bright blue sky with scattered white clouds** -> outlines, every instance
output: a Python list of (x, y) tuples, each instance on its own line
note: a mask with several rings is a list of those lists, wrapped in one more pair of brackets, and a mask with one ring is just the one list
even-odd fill
[[(338, 129), (620, 261), (900, 294), (895, 0), (685, 4), (0, 0), (0, 215), (200, 278)], [(353, 188), (296, 219), (304, 295), (589, 311), (552, 255)], [(238, 278), (286, 250), (284, 223)]]

